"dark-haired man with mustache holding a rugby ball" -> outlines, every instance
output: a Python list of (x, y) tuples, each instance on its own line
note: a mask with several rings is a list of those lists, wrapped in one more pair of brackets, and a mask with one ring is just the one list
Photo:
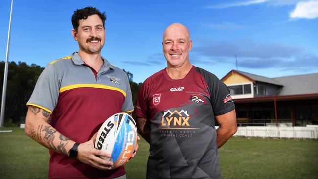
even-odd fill
[(126, 73), (101, 56), (105, 20), (93, 7), (74, 12), (79, 51), (50, 62), (27, 102), (25, 133), (50, 149), (49, 178), (126, 179), (124, 167), (112, 169), (100, 158), (111, 155), (94, 148), (108, 117), (134, 110)]

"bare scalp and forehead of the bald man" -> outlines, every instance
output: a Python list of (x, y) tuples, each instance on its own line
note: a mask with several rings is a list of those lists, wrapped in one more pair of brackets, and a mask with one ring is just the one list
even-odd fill
[(181, 23), (173, 23), (169, 25), (163, 32), (163, 41), (165, 40), (166, 36), (172, 35), (172, 36), (180, 36), (183, 35), (187, 38), (188, 41), (190, 41), (190, 31), (189, 29), (182, 25)]

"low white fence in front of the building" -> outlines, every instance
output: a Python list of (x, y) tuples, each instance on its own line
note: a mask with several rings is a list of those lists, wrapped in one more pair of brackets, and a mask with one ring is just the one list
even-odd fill
[(306, 127), (246, 126), (238, 127), (234, 136), (318, 139), (318, 125)]

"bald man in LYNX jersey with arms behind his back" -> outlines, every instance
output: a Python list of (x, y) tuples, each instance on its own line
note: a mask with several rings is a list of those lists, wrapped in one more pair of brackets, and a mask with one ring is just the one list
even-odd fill
[(218, 148), (237, 131), (229, 90), (190, 63), (184, 25), (168, 26), (162, 46), (167, 67), (145, 80), (136, 104), (138, 132), (150, 144), (147, 179), (220, 179)]

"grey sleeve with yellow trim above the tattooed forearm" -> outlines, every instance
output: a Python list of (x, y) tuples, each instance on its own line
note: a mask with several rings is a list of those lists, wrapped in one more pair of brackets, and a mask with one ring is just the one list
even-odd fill
[(48, 64), (39, 76), (26, 105), (37, 106), (52, 113), (57, 104), (59, 89), (60, 80), (55, 67), (52, 64)]

